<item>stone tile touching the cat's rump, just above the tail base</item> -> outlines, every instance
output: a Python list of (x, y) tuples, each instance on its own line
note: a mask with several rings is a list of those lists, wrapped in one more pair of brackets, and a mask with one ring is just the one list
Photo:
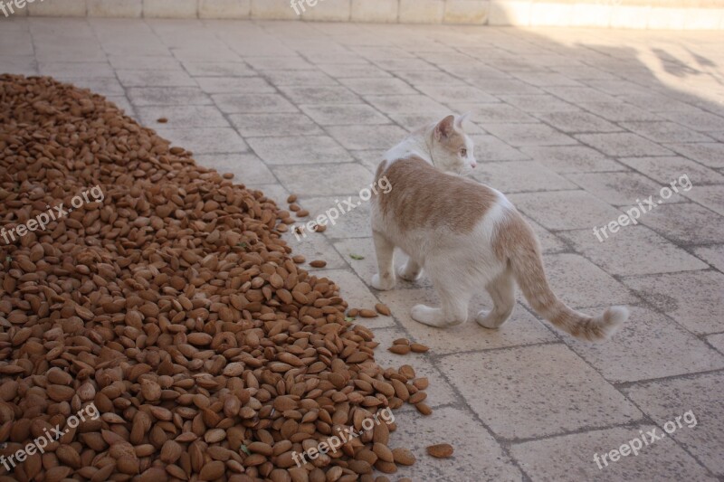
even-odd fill
[(584, 191), (510, 194), (520, 211), (549, 230), (593, 229), (620, 211)]

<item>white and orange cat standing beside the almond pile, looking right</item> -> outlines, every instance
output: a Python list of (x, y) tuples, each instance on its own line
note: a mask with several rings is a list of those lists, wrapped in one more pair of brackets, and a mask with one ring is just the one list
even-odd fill
[[(515, 306), (515, 285), (529, 304), (557, 328), (596, 341), (614, 334), (628, 318), (626, 307), (588, 317), (567, 307), (548, 286), (538, 238), (499, 191), (465, 177), (477, 165), (464, 117), (449, 115), (419, 128), (386, 152), (375, 179), (392, 188), (372, 198), (371, 223), (378, 272), (372, 286), (395, 287), (396, 274), (413, 281), (425, 269), (441, 307), (416, 305), (414, 320), (455, 326), (468, 318), (468, 304), (481, 288), (493, 307), (475, 320), (497, 328)], [(395, 246), (409, 260), (395, 273)]]

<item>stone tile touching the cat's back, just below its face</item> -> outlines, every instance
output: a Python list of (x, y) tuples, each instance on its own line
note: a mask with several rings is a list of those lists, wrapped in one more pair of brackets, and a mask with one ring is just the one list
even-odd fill
[(576, 184), (536, 161), (482, 163), (472, 171), (472, 175), (505, 194), (576, 189)]

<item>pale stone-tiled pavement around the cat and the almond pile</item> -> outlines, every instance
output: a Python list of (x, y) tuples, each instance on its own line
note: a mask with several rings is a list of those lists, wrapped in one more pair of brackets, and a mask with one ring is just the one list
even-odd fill
[[(475, 176), (509, 194), (532, 222), (557, 294), (587, 313), (626, 304), (632, 317), (601, 345), (557, 334), (522, 298), (498, 331), (473, 322), (433, 329), (408, 314), (415, 303), (435, 302), (426, 279), (385, 293), (369, 288), (367, 203), (323, 234), (291, 236), (294, 250), (328, 261), (319, 275), (337, 281), (351, 306), (391, 307), (393, 317), (360, 320), (381, 342), (377, 359), (413, 364), (430, 378), (433, 415), (397, 411), (393, 445), (418, 458), (397, 475), (724, 480), (721, 40), (720, 33), (21, 18), (0, 20), (0, 71), (52, 75), (107, 95), (200, 164), (233, 172), (281, 205), (299, 194), (315, 216), (356, 198), (381, 152), (409, 128), (470, 111)], [(161, 117), (168, 123), (157, 124)], [(672, 182), (679, 193), (598, 241), (595, 226), (649, 196), (655, 203)], [(472, 310), (482, 307), (490, 304), (481, 295)], [(390, 354), (386, 346), (399, 336), (431, 350)], [(695, 427), (683, 423), (636, 457), (596, 465), (595, 453), (618, 449), (640, 430), (661, 434), (688, 411)], [(453, 458), (424, 454), (443, 441), (455, 447)]]

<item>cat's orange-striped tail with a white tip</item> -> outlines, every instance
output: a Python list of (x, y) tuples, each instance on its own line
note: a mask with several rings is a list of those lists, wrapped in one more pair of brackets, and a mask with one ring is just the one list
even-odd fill
[(507, 221), (510, 224), (499, 231), (499, 236), (508, 238), (500, 240), (507, 246), (503, 247), (500, 242), (499, 252), (510, 263), (513, 277), (538, 315), (577, 338), (597, 341), (612, 336), (628, 319), (628, 309), (609, 307), (602, 314), (589, 317), (567, 307), (548, 285), (538, 238), (528, 222), (519, 214), (511, 216)]

